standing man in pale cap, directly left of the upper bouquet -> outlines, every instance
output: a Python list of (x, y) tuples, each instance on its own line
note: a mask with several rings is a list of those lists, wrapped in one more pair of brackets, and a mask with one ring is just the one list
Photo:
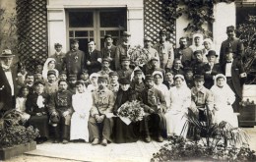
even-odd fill
[(130, 48), (131, 33), (123, 31), (122, 43), (116, 47), (115, 51), (115, 70), (121, 69), (121, 60), (123, 57), (128, 57), (127, 51)]

